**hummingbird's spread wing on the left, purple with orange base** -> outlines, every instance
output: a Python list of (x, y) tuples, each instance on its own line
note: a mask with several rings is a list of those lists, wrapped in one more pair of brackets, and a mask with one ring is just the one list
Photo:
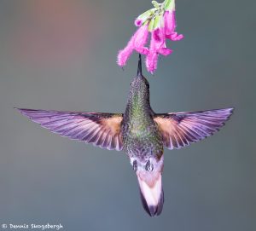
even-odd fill
[(75, 113), (17, 108), (32, 121), (61, 136), (73, 140), (93, 143), (95, 146), (115, 149), (123, 148), (120, 113)]

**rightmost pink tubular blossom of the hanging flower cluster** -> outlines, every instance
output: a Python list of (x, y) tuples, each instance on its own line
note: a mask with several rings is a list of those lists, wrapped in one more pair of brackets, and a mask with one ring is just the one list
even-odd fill
[(178, 41), (183, 39), (182, 34), (177, 34), (176, 30), (176, 17), (175, 17), (175, 10), (169, 11), (167, 10), (164, 15), (164, 22), (165, 22), (165, 33), (166, 38), (171, 39), (172, 41)]

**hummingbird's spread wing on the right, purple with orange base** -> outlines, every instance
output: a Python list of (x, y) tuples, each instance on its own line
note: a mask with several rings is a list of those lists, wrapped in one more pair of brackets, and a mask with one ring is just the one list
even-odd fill
[(190, 143), (201, 141), (219, 130), (230, 118), (234, 108), (224, 108), (201, 112), (156, 114), (164, 145), (181, 148)]

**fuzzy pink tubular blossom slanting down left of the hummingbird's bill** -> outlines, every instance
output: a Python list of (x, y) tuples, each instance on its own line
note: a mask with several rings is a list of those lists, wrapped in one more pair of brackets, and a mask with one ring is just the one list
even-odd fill
[(119, 50), (117, 63), (119, 66), (125, 66), (127, 60), (135, 49), (138, 53), (142, 55), (148, 55), (148, 48), (144, 45), (148, 41), (148, 25), (140, 26), (137, 32), (131, 37), (130, 41), (127, 43), (125, 49)]

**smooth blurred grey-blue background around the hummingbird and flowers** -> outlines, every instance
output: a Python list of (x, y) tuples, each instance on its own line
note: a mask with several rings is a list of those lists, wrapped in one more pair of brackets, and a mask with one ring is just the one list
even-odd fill
[[(236, 107), (207, 140), (166, 150), (160, 217), (148, 217), (124, 153), (51, 134), (13, 107), (124, 112), (137, 55), (116, 55), (143, 1), (0, 1), (0, 222), (64, 230), (256, 230), (256, 3), (178, 1), (154, 76), (155, 112)], [(144, 67), (144, 66), (143, 66)]]

